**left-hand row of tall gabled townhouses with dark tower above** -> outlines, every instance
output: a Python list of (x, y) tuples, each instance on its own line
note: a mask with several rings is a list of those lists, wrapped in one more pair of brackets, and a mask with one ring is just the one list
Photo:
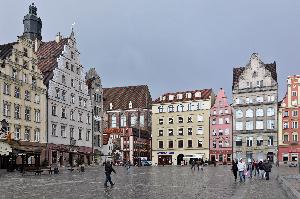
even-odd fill
[[(84, 72), (70, 36), (42, 41), (34, 4), (17, 42), (0, 45), (0, 115), (9, 141), (0, 167), (11, 164), (91, 163), (101, 155), (103, 91), (95, 69)], [(2, 126), (3, 126), (2, 125)]]

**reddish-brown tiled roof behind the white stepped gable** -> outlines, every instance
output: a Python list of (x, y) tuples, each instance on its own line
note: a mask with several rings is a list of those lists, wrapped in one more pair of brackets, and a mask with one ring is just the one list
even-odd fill
[(57, 67), (57, 58), (62, 54), (64, 45), (68, 43), (68, 38), (63, 38), (60, 42), (42, 42), (38, 51), (38, 67), (43, 73), (44, 83), (48, 85), (53, 77), (53, 70)]

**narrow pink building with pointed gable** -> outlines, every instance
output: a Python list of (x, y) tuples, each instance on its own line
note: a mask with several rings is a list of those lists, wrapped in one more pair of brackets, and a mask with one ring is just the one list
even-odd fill
[(221, 88), (210, 111), (210, 160), (232, 161), (232, 109)]

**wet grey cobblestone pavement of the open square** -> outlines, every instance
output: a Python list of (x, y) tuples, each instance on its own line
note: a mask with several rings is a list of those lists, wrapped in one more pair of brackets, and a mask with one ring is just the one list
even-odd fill
[(116, 185), (104, 188), (104, 167), (86, 172), (62, 170), (59, 175), (21, 176), (0, 172), (0, 198), (276, 198), (287, 195), (279, 186), (274, 168), (270, 181), (257, 178), (234, 182), (230, 166), (207, 167), (191, 171), (189, 167), (115, 167)]

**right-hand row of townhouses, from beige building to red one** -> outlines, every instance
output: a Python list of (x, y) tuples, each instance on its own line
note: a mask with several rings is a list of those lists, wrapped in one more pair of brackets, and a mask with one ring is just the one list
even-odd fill
[(223, 89), (166, 93), (152, 104), (152, 161), (297, 161), (300, 153), (300, 76), (290, 76), (278, 102), (276, 63), (253, 53), (233, 69), (232, 104)]

